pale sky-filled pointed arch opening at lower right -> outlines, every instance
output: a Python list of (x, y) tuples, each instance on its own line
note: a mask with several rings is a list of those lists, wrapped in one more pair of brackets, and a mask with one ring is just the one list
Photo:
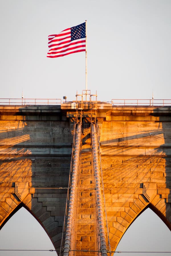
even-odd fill
[[(171, 232), (168, 226), (166, 218), (149, 205), (129, 226), (115, 251), (171, 251)], [(124, 253), (124, 256), (129, 255)], [(143, 253), (136, 255), (141, 256)], [(145, 253), (145, 256), (154, 255), (156, 253)], [(165, 255), (160, 253), (160, 256)]]

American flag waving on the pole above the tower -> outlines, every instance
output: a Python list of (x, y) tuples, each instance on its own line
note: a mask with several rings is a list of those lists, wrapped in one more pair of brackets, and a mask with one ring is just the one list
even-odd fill
[(50, 58), (86, 51), (86, 22), (67, 28), (57, 35), (50, 35), (48, 40), (47, 57)]

